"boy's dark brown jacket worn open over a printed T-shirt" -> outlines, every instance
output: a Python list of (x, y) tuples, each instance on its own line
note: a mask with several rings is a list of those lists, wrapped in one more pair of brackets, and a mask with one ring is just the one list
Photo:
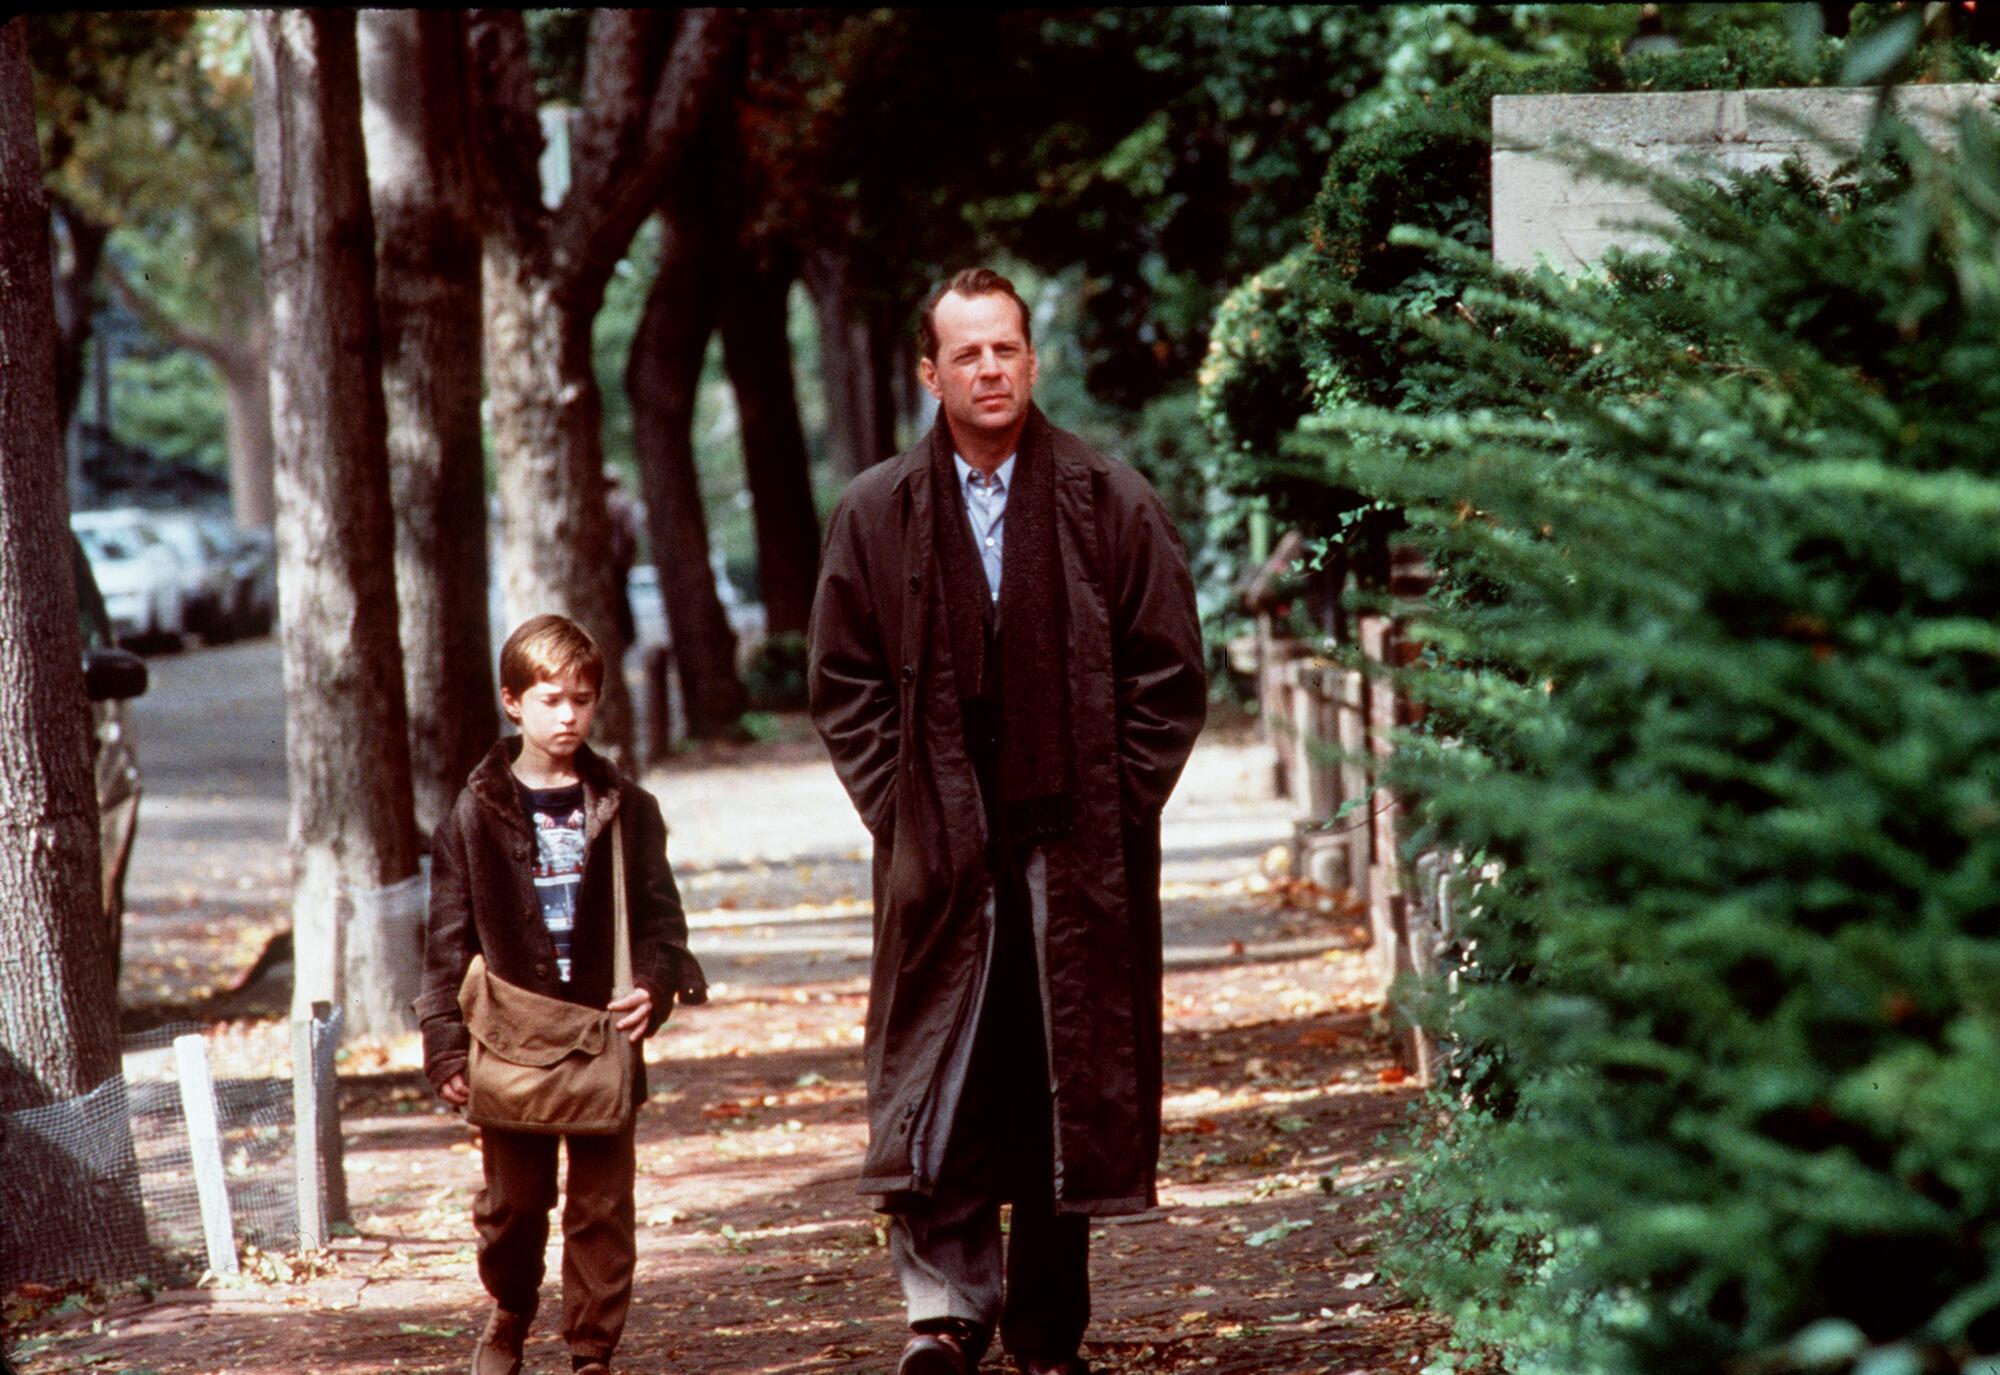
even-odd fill
[[(708, 1001), (702, 967), (688, 953), (688, 917), (666, 861), (660, 803), (590, 745), (576, 751), (584, 783), (584, 877), (576, 893), (572, 979), (556, 977), (556, 947), (534, 897), (534, 827), (514, 787), (520, 739), (498, 741), (466, 779), (430, 839), (430, 911), (424, 915), (424, 985), (414, 1009), (424, 1031), (424, 1073), (444, 1085), (466, 1067), (458, 985), (474, 955), (508, 983), (586, 1007), (612, 997), (612, 817), (622, 815), (632, 981), (652, 993), (660, 1029), (674, 1007)], [(634, 1055), (638, 1047), (632, 1047)], [(646, 1075), (634, 1075), (644, 1099)]]

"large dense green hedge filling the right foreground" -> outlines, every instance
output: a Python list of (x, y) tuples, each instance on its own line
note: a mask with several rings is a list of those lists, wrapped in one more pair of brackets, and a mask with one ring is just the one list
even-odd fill
[(1454, 408), (1290, 444), (1450, 570), (1396, 781), (1500, 877), (1398, 1269), (1502, 1369), (2000, 1353), (2000, 136), (1892, 154), (1608, 282), (1398, 234)]

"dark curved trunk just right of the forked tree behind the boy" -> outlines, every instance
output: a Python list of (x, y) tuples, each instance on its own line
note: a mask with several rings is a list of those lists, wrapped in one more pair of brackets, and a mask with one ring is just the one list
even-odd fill
[(694, 739), (730, 739), (748, 705), (736, 672), (736, 632), (716, 596), (708, 562), (708, 514), (694, 466), (694, 396), (716, 316), (716, 272), (708, 236), (666, 216), (660, 274), (632, 338), (626, 392), (632, 450), (646, 492), (646, 540), (660, 570), (660, 598), (674, 642), (674, 668)]

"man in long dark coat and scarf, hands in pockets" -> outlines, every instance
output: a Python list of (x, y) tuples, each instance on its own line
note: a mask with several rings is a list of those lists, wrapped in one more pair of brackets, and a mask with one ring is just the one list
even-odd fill
[(876, 839), (862, 1191), (890, 1213), (900, 1375), (964, 1375), (996, 1327), (1022, 1371), (1082, 1375), (1088, 1219), (1156, 1203), (1194, 586), (1146, 480), (1034, 408), (1004, 276), (944, 284), (922, 352), (938, 424), (848, 486), (812, 610), (814, 725)]

